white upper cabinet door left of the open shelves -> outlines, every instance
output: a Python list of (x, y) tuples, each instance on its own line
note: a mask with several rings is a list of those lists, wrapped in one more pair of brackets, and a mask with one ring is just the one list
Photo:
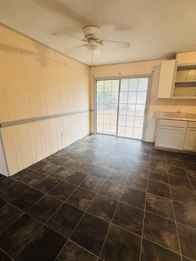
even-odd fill
[(174, 67), (175, 60), (163, 61), (161, 63), (157, 98), (170, 98)]

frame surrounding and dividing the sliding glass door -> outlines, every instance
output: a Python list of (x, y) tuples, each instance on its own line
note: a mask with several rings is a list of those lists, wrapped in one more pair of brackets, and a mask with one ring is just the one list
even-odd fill
[[(145, 136), (146, 136), (146, 125), (147, 125), (147, 119), (148, 119), (148, 111), (149, 111), (149, 100), (150, 100), (150, 91), (151, 91), (151, 85), (152, 85), (152, 78), (153, 74), (139, 74), (139, 75), (126, 75), (126, 76), (112, 76), (112, 77), (96, 77), (94, 78), (94, 133), (96, 134), (96, 81), (100, 80), (119, 80), (119, 91), (120, 91), (120, 80), (121, 79), (131, 79), (131, 78), (149, 78), (148, 80), (148, 88), (147, 88), (147, 94), (146, 94), (146, 113), (144, 115), (144, 125), (143, 125), (143, 134), (142, 134), (142, 139), (145, 141)], [(118, 99), (118, 104), (119, 104), (119, 99)], [(119, 111), (119, 106), (118, 106), (118, 111)], [(118, 112), (117, 112), (118, 113)], [(117, 115), (118, 117), (118, 115)], [(118, 127), (118, 118), (117, 118), (117, 127)], [(110, 135), (110, 134), (104, 134), (104, 135)], [(117, 132), (116, 132), (117, 136)], [(126, 137), (124, 137), (126, 138)], [(133, 138), (129, 138), (133, 139)]]

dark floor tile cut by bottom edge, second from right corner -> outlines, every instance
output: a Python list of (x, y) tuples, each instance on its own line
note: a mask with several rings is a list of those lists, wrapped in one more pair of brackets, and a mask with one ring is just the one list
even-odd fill
[(181, 261), (181, 256), (143, 238), (141, 261)]

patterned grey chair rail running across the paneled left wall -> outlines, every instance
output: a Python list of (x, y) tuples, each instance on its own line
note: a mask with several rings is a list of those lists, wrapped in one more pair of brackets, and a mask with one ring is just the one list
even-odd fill
[(28, 119), (17, 120), (17, 121), (6, 121), (6, 122), (1, 122), (0, 127), (4, 128), (4, 127), (13, 126), (13, 125), (25, 124), (25, 123), (34, 122), (34, 121), (43, 121), (43, 120), (47, 120), (47, 119), (64, 117), (64, 116), (69, 116), (69, 115), (73, 115), (73, 114), (85, 113), (85, 112), (90, 112), (90, 110), (72, 111), (72, 112), (59, 113), (59, 114), (53, 114), (53, 115), (47, 115), (47, 116), (41, 116), (41, 117), (35, 117), (35, 118), (28, 118)]

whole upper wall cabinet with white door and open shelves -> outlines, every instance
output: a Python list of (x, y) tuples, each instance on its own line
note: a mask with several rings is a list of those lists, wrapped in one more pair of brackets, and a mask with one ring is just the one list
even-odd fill
[(196, 51), (162, 62), (157, 98), (196, 99)]

